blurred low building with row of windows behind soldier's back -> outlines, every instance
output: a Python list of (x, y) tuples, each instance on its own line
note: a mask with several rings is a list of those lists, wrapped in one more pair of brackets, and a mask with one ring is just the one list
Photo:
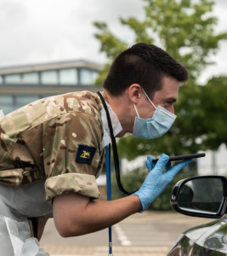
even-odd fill
[(62, 61), (0, 68), (0, 109), (8, 114), (47, 96), (94, 87), (100, 65), (89, 61)]

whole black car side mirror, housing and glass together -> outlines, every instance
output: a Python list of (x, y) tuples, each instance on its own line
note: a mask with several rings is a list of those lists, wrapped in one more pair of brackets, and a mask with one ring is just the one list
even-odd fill
[(173, 187), (171, 206), (176, 212), (202, 218), (221, 218), (227, 207), (224, 176), (185, 178)]

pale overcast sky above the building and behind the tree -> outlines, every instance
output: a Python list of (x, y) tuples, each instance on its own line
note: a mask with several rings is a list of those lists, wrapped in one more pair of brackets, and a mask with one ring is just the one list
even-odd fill
[[(227, 1), (214, 0), (216, 32), (227, 30)], [(1, 0), (0, 67), (83, 59), (104, 64), (94, 20), (105, 21), (117, 38), (133, 43), (133, 32), (119, 17), (143, 20), (142, 0)], [(219, 44), (216, 64), (207, 67), (199, 82), (227, 74), (227, 42)]]

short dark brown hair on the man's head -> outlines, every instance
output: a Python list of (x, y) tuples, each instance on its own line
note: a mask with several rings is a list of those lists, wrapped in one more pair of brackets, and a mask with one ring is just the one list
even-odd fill
[(122, 51), (111, 64), (103, 87), (112, 96), (121, 96), (131, 85), (139, 84), (152, 98), (162, 89), (164, 75), (179, 82), (188, 79), (187, 69), (154, 44), (139, 43)]

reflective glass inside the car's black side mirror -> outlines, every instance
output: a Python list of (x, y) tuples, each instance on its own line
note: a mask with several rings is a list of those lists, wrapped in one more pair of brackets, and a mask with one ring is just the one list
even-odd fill
[(223, 199), (222, 180), (201, 177), (184, 183), (179, 191), (178, 207), (188, 212), (215, 214)]

